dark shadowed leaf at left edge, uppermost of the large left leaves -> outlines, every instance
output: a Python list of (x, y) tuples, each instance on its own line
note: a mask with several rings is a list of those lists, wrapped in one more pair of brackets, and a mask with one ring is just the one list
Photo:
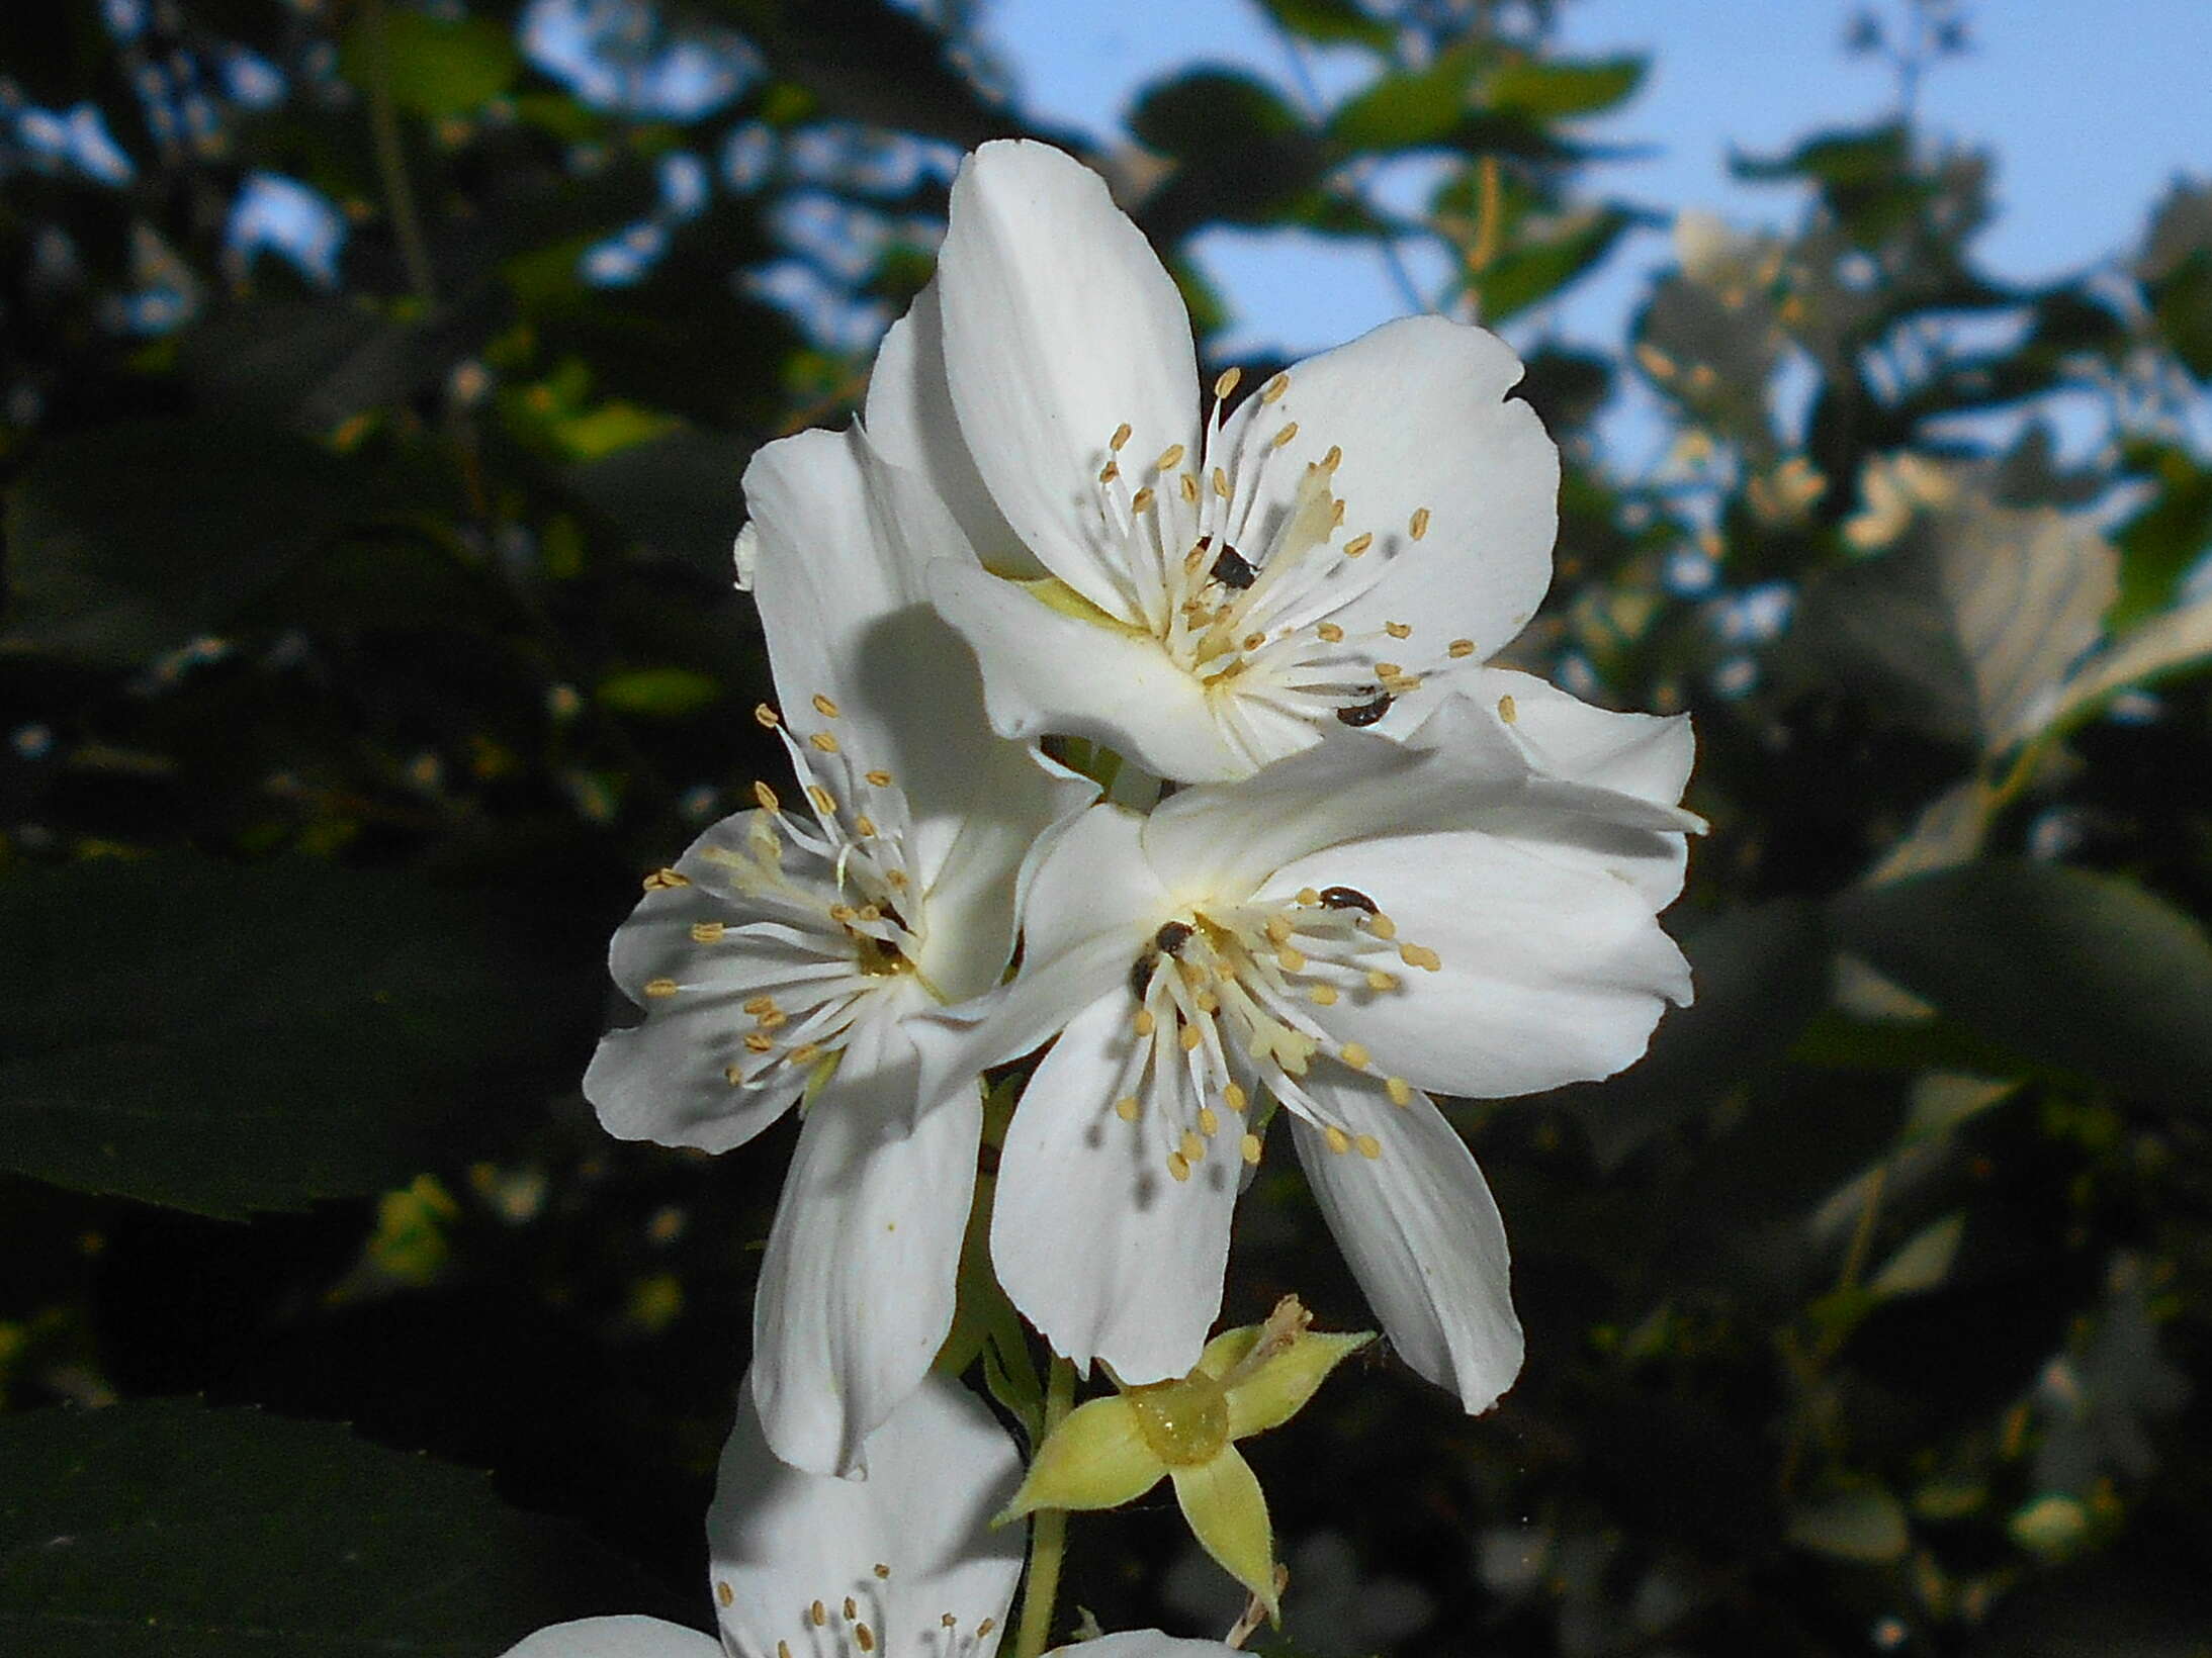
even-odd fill
[(142, 420), (64, 438), (9, 493), (0, 643), (142, 663), (221, 630), (376, 506), (365, 466), (263, 427)]

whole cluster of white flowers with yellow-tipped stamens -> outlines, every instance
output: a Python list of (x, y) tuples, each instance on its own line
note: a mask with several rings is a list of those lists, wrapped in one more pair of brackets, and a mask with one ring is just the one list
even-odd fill
[[(982, 1072), (1040, 1050), (989, 1256), (1057, 1355), (1133, 1395), (1228, 1375), (1230, 1218), (1285, 1119), (1391, 1349), (1467, 1410), (1513, 1382), (1504, 1227), (1429, 1090), (1635, 1061), (1690, 997), (1657, 911), (1701, 827), (1688, 721), (1489, 665), (1551, 581), (1557, 451), (1517, 378), (1411, 318), (1201, 396), (1104, 183), (991, 144), (863, 422), (754, 458), (739, 581), (794, 776), (648, 878), (613, 944), (644, 1019), (586, 1077), (624, 1138), (803, 1114), (710, 1517), (723, 1649), (995, 1649), (1018, 1554), (982, 1521), (1018, 1459), (931, 1364)], [(717, 1647), (597, 1620), (518, 1651)]]

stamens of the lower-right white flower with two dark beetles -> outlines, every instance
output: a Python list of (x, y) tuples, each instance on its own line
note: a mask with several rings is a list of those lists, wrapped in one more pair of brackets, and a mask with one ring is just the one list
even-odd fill
[(1137, 1041), (1115, 1112), (1157, 1125), (1177, 1180), (1223, 1132), (1223, 1114), (1237, 1119), (1241, 1156), (1259, 1163), (1259, 1136), (1241, 1123), (1261, 1092), (1314, 1123), (1332, 1152), (1380, 1156), (1374, 1134), (1347, 1130), (1301, 1079), (1321, 1057), (1383, 1077), (1391, 1101), (1409, 1103), (1411, 1083), (1385, 1074), (1358, 1041), (1338, 1041), (1327, 1010), (1405, 995), (1402, 968), (1440, 966), (1436, 951), (1400, 940), (1396, 922), (1352, 886), (1192, 909), (1190, 920), (1164, 922), (1130, 964)]

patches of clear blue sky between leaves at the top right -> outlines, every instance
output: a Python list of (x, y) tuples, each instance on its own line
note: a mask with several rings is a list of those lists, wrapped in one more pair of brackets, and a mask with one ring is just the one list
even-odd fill
[[(1606, 166), (1593, 188), (1659, 210), (1790, 223), (1796, 197), (1732, 181), (1728, 150), (1781, 150), (1814, 128), (1863, 124), (1891, 106), (1889, 71), (1840, 51), (1851, 9), (1840, 0), (1573, 0), (1566, 51), (1655, 57), (1635, 102), (1593, 126), (1595, 137), (1655, 155)], [(2212, 0), (2015, 0), (1971, 7), (1969, 24), (1973, 51), (1929, 75), (1922, 117), (1938, 137), (1997, 155), (2000, 217), (1980, 243), (1991, 274), (2051, 279), (2119, 252), (2170, 179), (2212, 172)], [(1250, 0), (991, 0), (984, 29), (1029, 111), (1095, 133), (1119, 133), (1137, 88), (1194, 60), (1292, 88), (1281, 40)], [(1312, 66), (1325, 95), (1365, 73), (1356, 55)], [(1230, 349), (1312, 349), (1407, 309), (1371, 250), (1210, 232), (1201, 256), (1239, 314)], [(1544, 321), (1617, 343), (1644, 272), (1663, 259), (1663, 237), (1637, 239)]]

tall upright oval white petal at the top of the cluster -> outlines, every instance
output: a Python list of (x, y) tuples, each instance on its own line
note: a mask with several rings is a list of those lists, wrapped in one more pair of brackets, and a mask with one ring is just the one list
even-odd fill
[(953, 409), (991, 497), (1048, 570), (1130, 615), (1095, 544), (1097, 473), (1124, 422), (1141, 460), (1194, 442), (1175, 281), (1095, 172), (1033, 141), (962, 161), (936, 281)]

